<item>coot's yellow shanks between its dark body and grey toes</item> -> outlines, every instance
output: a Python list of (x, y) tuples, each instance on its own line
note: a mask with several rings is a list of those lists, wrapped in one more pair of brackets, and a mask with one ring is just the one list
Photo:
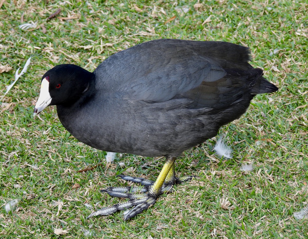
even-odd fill
[[(161, 169), (160, 174), (158, 175), (155, 183), (153, 184), (153, 186), (151, 187), (151, 189), (148, 192), (150, 195), (157, 197), (157, 195), (161, 194), (161, 188), (163, 187), (163, 184), (164, 184), (166, 177), (172, 177), (172, 175), (174, 174), (173, 172), (174, 172), (174, 162), (175, 162), (175, 160), (176, 160), (176, 157), (173, 157), (171, 155), (168, 155), (166, 157), (166, 162), (163, 166), (163, 169)], [(170, 170), (172, 168), (173, 168), (173, 171)], [(171, 173), (172, 173), (172, 175), (170, 175)]]

